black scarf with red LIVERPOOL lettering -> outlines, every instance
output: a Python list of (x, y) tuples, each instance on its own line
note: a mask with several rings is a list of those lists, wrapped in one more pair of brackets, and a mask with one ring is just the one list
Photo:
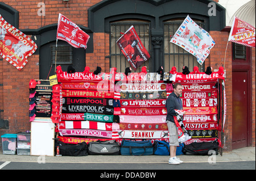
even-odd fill
[(96, 106), (113, 106), (113, 99), (103, 98), (63, 98), (63, 104), (89, 104)]

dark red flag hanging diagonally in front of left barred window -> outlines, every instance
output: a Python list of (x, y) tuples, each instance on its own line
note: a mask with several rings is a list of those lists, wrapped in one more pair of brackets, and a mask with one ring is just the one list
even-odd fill
[(117, 45), (134, 70), (150, 58), (133, 26), (117, 40)]

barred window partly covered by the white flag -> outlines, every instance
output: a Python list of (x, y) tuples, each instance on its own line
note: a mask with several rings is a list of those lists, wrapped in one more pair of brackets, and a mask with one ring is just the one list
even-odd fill
[[(164, 22), (164, 71), (168, 72), (173, 66), (176, 66), (178, 72), (181, 72), (183, 66), (187, 66), (189, 71), (193, 71), (194, 66), (198, 66), (200, 71), (204, 71), (204, 64), (200, 65), (196, 57), (183, 48), (170, 43), (177, 29), (184, 19), (174, 19)], [(194, 20), (200, 27), (204, 28), (204, 23)]]

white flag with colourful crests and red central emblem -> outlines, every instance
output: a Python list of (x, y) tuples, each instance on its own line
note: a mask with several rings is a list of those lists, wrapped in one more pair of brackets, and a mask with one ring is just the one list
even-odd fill
[(210, 49), (215, 44), (209, 33), (198, 26), (189, 16), (185, 18), (170, 42), (193, 54), (200, 65), (204, 63), (205, 58), (210, 54)]

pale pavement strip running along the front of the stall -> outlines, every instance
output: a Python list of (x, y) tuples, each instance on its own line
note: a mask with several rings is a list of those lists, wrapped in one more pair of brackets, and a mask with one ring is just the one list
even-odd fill
[[(183, 162), (237, 162), (255, 161), (255, 147), (224, 151), (222, 155), (179, 155)], [(163, 155), (87, 155), (84, 157), (50, 157), (31, 155), (6, 155), (0, 152), (0, 162), (46, 162), (46, 163), (167, 163), (170, 156)]]

